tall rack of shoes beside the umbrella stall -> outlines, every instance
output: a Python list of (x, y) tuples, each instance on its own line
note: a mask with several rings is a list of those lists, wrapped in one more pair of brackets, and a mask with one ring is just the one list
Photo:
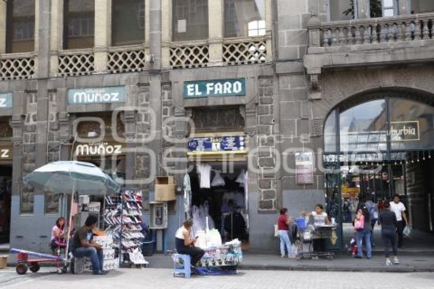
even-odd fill
[(104, 222), (106, 232), (113, 235), (119, 266), (147, 265), (143, 258), (142, 192), (139, 189), (123, 188), (116, 196), (105, 198)]

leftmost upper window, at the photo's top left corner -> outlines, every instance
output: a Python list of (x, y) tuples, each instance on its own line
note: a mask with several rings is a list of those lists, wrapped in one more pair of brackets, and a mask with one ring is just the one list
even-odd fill
[(7, 2), (6, 52), (35, 50), (35, 0)]

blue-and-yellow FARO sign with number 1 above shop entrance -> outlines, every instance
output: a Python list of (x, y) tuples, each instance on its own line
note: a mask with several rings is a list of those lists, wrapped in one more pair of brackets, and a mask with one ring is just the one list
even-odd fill
[(193, 137), (188, 140), (189, 152), (224, 152), (245, 150), (245, 136)]

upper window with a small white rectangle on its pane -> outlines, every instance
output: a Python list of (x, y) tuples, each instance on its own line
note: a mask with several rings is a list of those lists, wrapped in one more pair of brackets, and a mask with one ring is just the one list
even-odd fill
[(208, 38), (208, 0), (173, 0), (174, 41)]

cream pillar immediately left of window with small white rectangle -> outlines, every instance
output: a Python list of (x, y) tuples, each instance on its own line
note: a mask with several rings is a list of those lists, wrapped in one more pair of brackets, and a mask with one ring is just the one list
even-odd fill
[(170, 67), (170, 43), (172, 41), (172, 0), (161, 1), (161, 66)]

